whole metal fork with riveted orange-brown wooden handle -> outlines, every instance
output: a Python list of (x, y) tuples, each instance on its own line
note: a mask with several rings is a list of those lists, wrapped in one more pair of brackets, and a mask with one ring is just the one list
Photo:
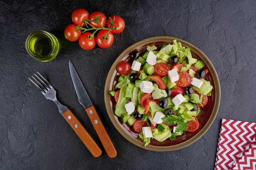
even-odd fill
[(58, 106), (59, 112), (70, 124), (70, 126), (79, 136), (81, 141), (88, 148), (90, 153), (92, 153), (94, 157), (99, 157), (102, 154), (102, 150), (99, 148), (96, 142), (92, 139), (90, 134), (84, 129), (84, 127), (81, 125), (78, 119), (76, 119), (76, 116), (74, 116), (74, 114), (66, 106), (61, 105), (61, 103), (58, 101), (56, 97), (56, 91), (52, 87), (52, 85), (41, 74), (38, 73), (41, 79), (36, 74), (34, 75), (35, 77), (32, 76), (32, 78), (35, 80), (35, 82), (30, 78), (29, 80), (41, 91), (42, 94), (44, 94), (46, 99), (50, 99), (56, 103), (56, 105)]

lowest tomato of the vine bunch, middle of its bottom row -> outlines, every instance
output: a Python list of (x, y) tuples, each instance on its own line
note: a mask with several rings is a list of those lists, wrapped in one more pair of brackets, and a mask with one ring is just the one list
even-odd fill
[(91, 50), (96, 45), (96, 38), (95, 38), (95, 36), (93, 36), (93, 38), (89, 38), (89, 35), (92, 35), (92, 33), (85, 32), (84, 34), (81, 35), (81, 37), (79, 39), (79, 45), (84, 50)]

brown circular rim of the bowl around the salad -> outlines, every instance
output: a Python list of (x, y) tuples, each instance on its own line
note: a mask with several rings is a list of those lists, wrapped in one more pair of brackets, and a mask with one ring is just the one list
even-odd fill
[[(120, 61), (122, 61), (125, 58), (125, 56), (127, 56), (127, 54), (129, 54), (131, 51), (134, 51), (134, 49), (136, 49), (136, 48), (138, 48), (141, 45), (144, 45), (146, 43), (150, 43), (150, 42), (157, 42), (157, 41), (170, 41), (170, 42), (172, 42), (173, 40), (177, 40), (178, 42), (181, 42), (181, 44), (186, 45), (189, 48), (193, 48), (193, 51), (195, 51), (195, 53), (198, 54), (198, 55), (200, 54), (199, 56), (206, 63), (208, 69), (210, 70), (210, 72), (212, 74), (212, 78), (213, 78), (212, 83), (214, 83), (214, 86), (215, 86), (215, 101), (214, 101), (215, 105), (214, 105), (214, 108), (212, 109), (212, 114), (209, 117), (209, 120), (207, 121), (205, 126), (192, 138), (188, 139), (185, 142), (182, 142), (180, 144), (175, 144), (175, 145), (172, 145), (172, 146), (147, 145), (145, 147), (143, 142), (140, 142), (137, 139), (135, 139), (133, 136), (129, 135), (117, 122), (117, 120), (115, 118), (115, 114), (113, 113), (112, 108), (111, 108), (111, 101), (110, 101), (110, 97), (109, 97), (111, 79), (113, 77), (113, 72), (116, 70), (116, 65)], [(179, 150), (179, 149), (182, 149), (184, 147), (189, 146), (190, 144), (192, 144), (192, 143), (196, 142), (198, 139), (200, 139), (209, 130), (209, 127), (211, 127), (211, 125), (214, 122), (215, 117), (218, 113), (218, 108), (219, 108), (220, 99), (221, 99), (221, 88), (220, 88), (220, 82), (219, 82), (219, 79), (218, 79), (218, 74), (217, 74), (214, 66), (212, 65), (212, 62), (209, 60), (209, 58), (199, 48), (197, 48), (195, 45), (192, 45), (191, 43), (189, 43), (185, 40), (179, 39), (179, 38), (168, 37), (168, 36), (158, 36), (158, 37), (149, 37), (149, 38), (140, 40), (140, 41), (134, 43), (133, 45), (130, 45), (128, 48), (126, 48), (116, 58), (116, 60), (112, 64), (112, 66), (111, 66), (111, 68), (108, 72), (108, 76), (106, 78), (105, 89), (104, 89), (104, 98), (105, 98), (105, 106), (106, 106), (106, 109), (107, 109), (107, 113), (108, 113), (109, 118), (111, 119), (112, 124), (114, 125), (116, 130), (118, 130), (118, 132), (125, 139), (127, 139), (132, 144), (135, 144), (138, 147), (141, 147), (141, 148), (146, 149), (146, 150), (157, 151), (157, 152), (166, 152), (166, 151)]]

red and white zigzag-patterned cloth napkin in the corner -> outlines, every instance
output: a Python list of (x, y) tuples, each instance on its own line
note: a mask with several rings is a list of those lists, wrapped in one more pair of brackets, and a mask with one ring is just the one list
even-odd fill
[(215, 170), (256, 169), (256, 123), (222, 119)]

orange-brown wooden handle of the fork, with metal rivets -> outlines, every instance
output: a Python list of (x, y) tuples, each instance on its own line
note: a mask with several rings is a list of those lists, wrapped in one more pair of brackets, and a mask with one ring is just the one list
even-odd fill
[(73, 130), (75, 130), (81, 141), (84, 142), (90, 153), (92, 153), (94, 157), (101, 156), (102, 150), (99, 148), (90, 134), (84, 129), (81, 123), (76, 119), (76, 116), (74, 116), (70, 110), (67, 110), (62, 115), (73, 128)]

